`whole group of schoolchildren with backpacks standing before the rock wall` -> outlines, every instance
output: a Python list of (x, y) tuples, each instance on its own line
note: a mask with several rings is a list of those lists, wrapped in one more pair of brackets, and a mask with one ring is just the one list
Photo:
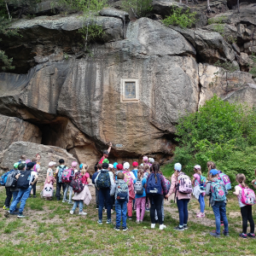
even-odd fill
[[(109, 150), (110, 151), (110, 150)], [(200, 203), (200, 212), (196, 214), (196, 218), (204, 218), (205, 215), (205, 195), (209, 196), (209, 204), (215, 216), (216, 230), (210, 232), (211, 236), (219, 237), (221, 235), (220, 227), (224, 224), (223, 234), (229, 236), (229, 224), (226, 216), (226, 195), (231, 189), (230, 179), (223, 172), (217, 170), (212, 161), (207, 162), (207, 177), (203, 177), (201, 166), (194, 167), (194, 175), (192, 180), (182, 172), (182, 166), (179, 163), (174, 165), (174, 173), (171, 181), (166, 179), (160, 172), (160, 165), (154, 162), (154, 159), (143, 157), (143, 164), (138, 165), (136, 161), (130, 164), (124, 161), (122, 164), (117, 162), (109, 164), (108, 154), (105, 151), (102, 159), (96, 165), (97, 170), (92, 175), (88, 173), (88, 165), (73, 162), (71, 167), (65, 165), (64, 160), (59, 160), (59, 166), (54, 172), (53, 167), (56, 165), (54, 161), (49, 162), (46, 179), (44, 182), (44, 190), (42, 196), (51, 200), (53, 196), (53, 184), (56, 183), (55, 196), (57, 201), (61, 200), (61, 189), (63, 193), (63, 201), (67, 201), (67, 192), (69, 192), (69, 204), (73, 204), (70, 213), (74, 214), (79, 207), (79, 215), (86, 215), (83, 212), (84, 203), (89, 205), (91, 201), (90, 190), (88, 185), (95, 184), (96, 188), (96, 208), (98, 209), (98, 224), (102, 224), (102, 212), (105, 207), (107, 211), (107, 224), (111, 224), (111, 214), (113, 206), (116, 211), (116, 224), (114, 230), (120, 230), (122, 222), (122, 230), (128, 230), (126, 219), (132, 218), (133, 211), (136, 211), (136, 223), (143, 222), (145, 211), (150, 205), (151, 228), (155, 228), (155, 224), (160, 224), (160, 230), (166, 228), (164, 224), (164, 201), (174, 194), (174, 200), (177, 201), (179, 212), (179, 224), (174, 230), (188, 229), (188, 204), (191, 195), (195, 195)], [(9, 214), (17, 214), (18, 218), (24, 218), (23, 210), (26, 200), (30, 196), (32, 189), (38, 180), (38, 172), (40, 171), (41, 156), (37, 155), (35, 160), (26, 160), (26, 156), (21, 156), (20, 160), (15, 163), (14, 170), (5, 175), (6, 200), (5, 217)], [(78, 170), (78, 169), (79, 170)], [(132, 170), (131, 170), (132, 169)], [(3, 180), (3, 177), (2, 177)], [(0, 182), (2, 183), (2, 180)], [(255, 237), (252, 206), (255, 204), (255, 195), (252, 189), (249, 189), (245, 183), (244, 174), (236, 175), (236, 185), (234, 195), (237, 196), (239, 206), (241, 207), (242, 217), (242, 238)], [(256, 180), (253, 180), (253, 184)], [(74, 195), (73, 195), (74, 192)], [(73, 195), (73, 197), (72, 197)], [(11, 197), (13, 201), (10, 204)], [(73, 200), (73, 201), (72, 201)], [(20, 207), (17, 208), (20, 202)], [(9, 205), (10, 204), (10, 205)], [(128, 213), (128, 214), (127, 214)], [(247, 233), (247, 221), (250, 223), (250, 232)]]

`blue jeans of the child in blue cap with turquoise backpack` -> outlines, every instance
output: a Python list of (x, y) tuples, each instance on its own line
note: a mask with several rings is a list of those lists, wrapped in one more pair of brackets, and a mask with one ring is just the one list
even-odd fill
[(220, 234), (220, 217), (222, 217), (224, 221), (224, 232), (228, 233), (229, 223), (226, 216), (226, 204), (224, 203), (224, 201), (215, 201), (214, 206), (212, 207), (212, 211), (215, 216), (216, 233)]

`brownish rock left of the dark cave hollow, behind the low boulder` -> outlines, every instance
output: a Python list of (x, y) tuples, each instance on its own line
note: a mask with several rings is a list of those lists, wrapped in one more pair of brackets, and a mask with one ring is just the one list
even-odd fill
[(14, 142), (41, 143), (42, 134), (36, 125), (0, 114), (0, 152)]

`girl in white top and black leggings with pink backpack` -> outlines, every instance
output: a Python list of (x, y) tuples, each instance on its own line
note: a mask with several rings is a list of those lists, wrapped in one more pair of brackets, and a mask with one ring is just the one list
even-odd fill
[[(241, 208), (242, 233), (239, 234), (239, 236), (242, 238), (247, 238), (247, 236), (255, 238), (252, 213), (252, 206), (255, 204), (255, 194), (252, 189), (248, 189), (245, 181), (246, 177), (243, 173), (238, 173), (236, 175), (236, 182), (238, 185), (236, 185), (236, 191), (233, 192), (233, 194), (237, 195), (239, 207)], [(247, 233), (247, 221), (250, 223), (250, 233)]]

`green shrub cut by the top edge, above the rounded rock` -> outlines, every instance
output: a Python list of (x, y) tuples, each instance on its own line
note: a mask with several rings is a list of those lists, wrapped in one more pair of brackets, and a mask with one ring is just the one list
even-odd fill
[(152, 0), (124, 0), (122, 1), (122, 9), (132, 13), (137, 17), (146, 17), (153, 9)]

